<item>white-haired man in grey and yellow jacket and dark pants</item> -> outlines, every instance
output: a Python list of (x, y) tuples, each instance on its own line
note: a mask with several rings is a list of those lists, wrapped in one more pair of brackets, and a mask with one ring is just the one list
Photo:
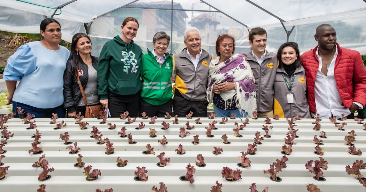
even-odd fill
[(208, 65), (213, 56), (201, 49), (201, 36), (195, 27), (184, 31), (184, 45), (187, 48), (173, 56), (174, 115), (185, 117), (191, 111), (193, 117), (207, 117)]

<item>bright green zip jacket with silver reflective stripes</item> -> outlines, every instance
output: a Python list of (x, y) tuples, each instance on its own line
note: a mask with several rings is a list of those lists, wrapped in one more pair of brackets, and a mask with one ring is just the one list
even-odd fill
[(149, 49), (147, 49), (147, 54), (142, 56), (141, 79), (143, 87), (141, 98), (152, 105), (164, 104), (173, 96), (170, 82), (173, 68), (172, 55), (165, 53), (165, 57), (167, 59), (160, 67)]

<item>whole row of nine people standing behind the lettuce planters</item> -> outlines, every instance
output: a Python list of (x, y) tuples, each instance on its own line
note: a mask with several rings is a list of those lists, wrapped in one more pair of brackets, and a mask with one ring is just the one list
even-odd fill
[[(235, 53), (235, 39), (222, 34), (216, 56), (201, 48), (199, 30), (184, 31), (186, 48), (167, 52), (171, 37), (159, 31), (153, 49), (134, 43), (138, 20), (126, 18), (117, 35), (91, 56), (88, 35), (73, 36), (70, 52), (59, 45), (61, 26), (55, 19), (41, 22), (42, 39), (22, 45), (9, 57), (4, 79), (8, 103), (37, 117), (75, 117), (86, 106), (102, 105), (111, 117), (129, 112), (138, 117), (207, 117), (213, 103), (218, 117), (290, 118), (320, 114), (320, 118), (345, 114), (366, 104), (366, 69), (359, 52), (336, 43), (336, 31), (317, 27), (318, 46), (300, 56), (295, 42), (276, 53), (266, 50), (267, 33), (260, 27), (249, 33), (249, 53)], [(16, 87), (17, 81), (20, 81)], [(81, 89), (82, 88), (82, 89)], [(82, 94), (85, 93), (85, 94)], [(16, 114), (19, 115), (19, 114)]]

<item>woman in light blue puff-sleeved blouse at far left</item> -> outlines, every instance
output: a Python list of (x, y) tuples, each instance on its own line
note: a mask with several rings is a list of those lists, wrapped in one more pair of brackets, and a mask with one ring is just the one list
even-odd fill
[(15, 113), (21, 107), (36, 117), (52, 117), (52, 113), (64, 117), (63, 74), (70, 52), (59, 45), (57, 20), (42, 20), (40, 33), (43, 40), (20, 46), (8, 59), (3, 76), (9, 92), (7, 105), (12, 103)]

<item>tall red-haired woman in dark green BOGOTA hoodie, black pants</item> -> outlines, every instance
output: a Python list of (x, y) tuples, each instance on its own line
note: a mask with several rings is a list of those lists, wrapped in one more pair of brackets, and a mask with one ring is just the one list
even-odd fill
[(137, 35), (138, 27), (137, 19), (124, 19), (122, 35), (106, 42), (99, 56), (98, 95), (111, 117), (119, 117), (125, 111), (131, 117), (138, 117), (142, 49), (132, 40)]

